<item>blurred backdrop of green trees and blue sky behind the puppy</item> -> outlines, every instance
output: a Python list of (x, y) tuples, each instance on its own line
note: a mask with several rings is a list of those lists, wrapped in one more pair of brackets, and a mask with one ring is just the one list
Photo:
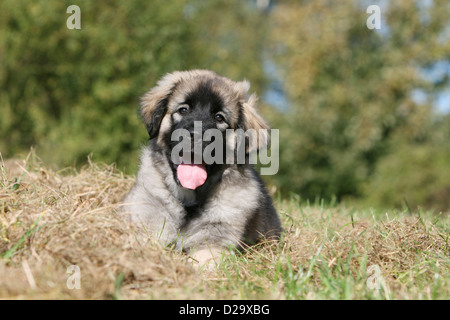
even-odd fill
[(281, 196), (449, 211), (449, 60), (448, 0), (1, 0), (0, 152), (134, 174), (140, 97), (205, 68), (261, 97)]

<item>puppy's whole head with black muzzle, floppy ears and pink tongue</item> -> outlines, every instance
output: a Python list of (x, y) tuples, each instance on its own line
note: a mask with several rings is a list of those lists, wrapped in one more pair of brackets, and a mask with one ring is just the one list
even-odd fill
[[(152, 148), (164, 155), (179, 185), (196, 189), (223, 172), (225, 159), (213, 163), (194, 160), (196, 153), (203, 153), (215, 140), (204, 139), (209, 129), (218, 132), (224, 144), (229, 140), (227, 129), (267, 131), (268, 126), (256, 112), (256, 96), (249, 96), (248, 89), (246, 81), (234, 82), (211, 71), (193, 70), (167, 74), (144, 95), (141, 114)], [(179, 140), (173, 139), (173, 134), (179, 129), (192, 138), (192, 149), (174, 156)], [(194, 145), (197, 137), (203, 138), (200, 147)], [(267, 135), (250, 136), (247, 143), (247, 153), (258, 150), (267, 145)]]

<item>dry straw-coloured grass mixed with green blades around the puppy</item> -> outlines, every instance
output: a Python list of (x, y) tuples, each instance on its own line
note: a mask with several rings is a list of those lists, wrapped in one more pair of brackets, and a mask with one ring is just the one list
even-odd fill
[[(217, 270), (202, 272), (185, 255), (138, 240), (116, 215), (132, 183), (113, 166), (55, 172), (34, 153), (2, 161), (0, 298), (450, 298), (448, 215), (279, 200), (279, 245), (230, 253)], [(71, 265), (80, 268), (81, 289), (67, 286)], [(370, 266), (380, 271), (379, 290), (368, 285), (376, 276)]]

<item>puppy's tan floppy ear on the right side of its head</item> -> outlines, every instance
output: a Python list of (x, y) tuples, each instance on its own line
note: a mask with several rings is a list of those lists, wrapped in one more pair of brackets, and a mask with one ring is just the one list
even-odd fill
[(242, 103), (244, 130), (248, 133), (248, 153), (264, 149), (269, 144), (270, 127), (258, 114), (257, 102), (257, 96), (252, 94), (247, 101)]

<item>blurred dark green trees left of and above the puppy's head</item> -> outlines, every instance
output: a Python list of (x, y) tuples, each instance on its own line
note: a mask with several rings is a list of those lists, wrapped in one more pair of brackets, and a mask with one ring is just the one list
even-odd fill
[(147, 138), (137, 115), (139, 97), (166, 72), (208, 68), (236, 80), (248, 78), (254, 89), (263, 84), (261, 37), (253, 32), (261, 19), (248, 4), (70, 4), (81, 9), (81, 30), (66, 27), (68, 2), (0, 4), (5, 157), (35, 145), (57, 166), (84, 163), (93, 153), (96, 160), (132, 171)]

